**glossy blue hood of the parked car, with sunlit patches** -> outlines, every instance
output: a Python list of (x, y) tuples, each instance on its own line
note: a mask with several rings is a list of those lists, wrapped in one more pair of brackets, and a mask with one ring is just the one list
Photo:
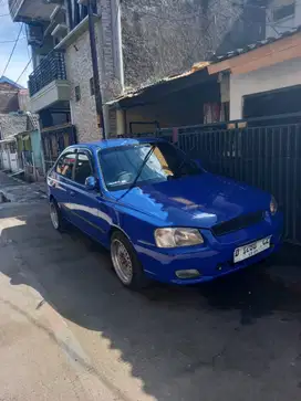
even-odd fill
[(153, 217), (162, 225), (211, 228), (245, 213), (268, 210), (270, 196), (225, 177), (204, 172), (117, 191), (123, 207)]

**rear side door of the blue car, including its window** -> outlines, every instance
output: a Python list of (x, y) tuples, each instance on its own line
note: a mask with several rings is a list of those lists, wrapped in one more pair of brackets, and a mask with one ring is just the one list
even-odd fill
[(48, 177), (50, 193), (58, 202), (63, 215), (70, 220), (70, 192), (73, 188), (73, 175), (76, 161), (76, 150), (62, 154)]

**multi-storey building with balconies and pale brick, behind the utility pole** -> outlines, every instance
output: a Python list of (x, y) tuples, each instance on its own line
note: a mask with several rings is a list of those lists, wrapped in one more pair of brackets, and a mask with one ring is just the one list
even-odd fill
[[(121, 10), (117, 0), (91, 3), (105, 103), (123, 91)], [(9, 0), (9, 6), (12, 20), (27, 25), (33, 62), (29, 77), (31, 110), (40, 116), (43, 150), (51, 163), (62, 147), (102, 137), (95, 107), (87, 1)], [(105, 117), (110, 133), (108, 115)]]

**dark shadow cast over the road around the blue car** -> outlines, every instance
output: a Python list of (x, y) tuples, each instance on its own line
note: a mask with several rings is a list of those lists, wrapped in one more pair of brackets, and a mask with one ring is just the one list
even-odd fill
[[(11, 213), (0, 211), (0, 218)], [(14, 219), (21, 223), (3, 229), (1, 246), (11, 246), (20, 263), (1, 264), (1, 272), (12, 285), (34, 287), (68, 320), (97, 331), (100, 341), (107, 339), (156, 400), (236, 399), (227, 384), (231, 372), (258, 386), (264, 374), (281, 381), (271, 363), (284, 363), (288, 349), (299, 367), (301, 293), (273, 276), (281, 257), (205, 285), (154, 284), (133, 293), (116, 279), (106, 251), (75, 229), (53, 231), (43, 208), (23, 208)], [(301, 268), (300, 257), (295, 263)], [(243, 380), (241, 392), (249, 386)], [(298, 383), (292, 374), (287, 386)]]

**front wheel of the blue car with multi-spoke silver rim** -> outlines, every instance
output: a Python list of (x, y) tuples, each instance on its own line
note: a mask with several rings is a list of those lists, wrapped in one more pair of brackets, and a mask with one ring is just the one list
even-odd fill
[(115, 273), (125, 287), (139, 291), (147, 286), (148, 279), (137, 254), (121, 232), (113, 233), (111, 238), (111, 258)]

